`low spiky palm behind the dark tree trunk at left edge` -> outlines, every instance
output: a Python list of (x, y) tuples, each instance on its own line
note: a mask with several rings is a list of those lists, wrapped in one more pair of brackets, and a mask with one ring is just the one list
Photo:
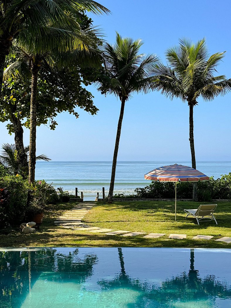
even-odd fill
[[(29, 152), (29, 146), (26, 146), (24, 148), (24, 152), (27, 157)], [(36, 160), (50, 161), (51, 159), (46, 155), (41, 154), (39, 156), (36, 156)], [(5, 168), (7, 168), (10, 174), (12, 175), (20, 174), (22, 175), (23, 178), (27, 178), (28, 163), (29, 161), (27, 160), (27, 165), (23, 167), (21, 166), (21, 164), (18, 161), (17, 149), (15, 144), (8, 144), (8, 143), (2, 144), (2, 154), (0, 155), (0, 164), (2, 164)]]

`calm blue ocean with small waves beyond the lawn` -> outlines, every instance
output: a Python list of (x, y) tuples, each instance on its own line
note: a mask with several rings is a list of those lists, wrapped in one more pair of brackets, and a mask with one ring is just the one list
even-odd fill
[[(176, 161), (118, 161), (116, 166), (114, 193), (134, 193), (137, 187), (149, 185), (151, 181), (144, 180), (144, 174), (161, 166), (176, 164)], [(177, 164), (191, 166), (190, 161)], [(198, 161), (197, 169), (207, 176), (219, 178), (221, 174), (231, 172), (231, 161)], [(84, 200), (95, 200), (96, 194), (102, 197), (102, 187), (105, 195), (108, 193), (111, 179), (111, 162), (109, 161), (38, 161), (35, 169), (36, 180), (46, 180), (55, 188), (63, 187), (79, 195), (83, 192)]]

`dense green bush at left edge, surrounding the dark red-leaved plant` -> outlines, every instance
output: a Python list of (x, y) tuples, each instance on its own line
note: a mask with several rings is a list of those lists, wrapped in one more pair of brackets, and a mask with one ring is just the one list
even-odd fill
[(10, 225), (20, 222), (26, 213), (27, 189), (22, 176), (7, 175), (0, 177), (0, 188), (7, 188), (10, 193), (6, 217)]

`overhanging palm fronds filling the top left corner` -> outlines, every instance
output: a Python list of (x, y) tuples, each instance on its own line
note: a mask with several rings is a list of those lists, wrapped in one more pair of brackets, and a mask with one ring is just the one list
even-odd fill
[[(70, 17), (79, 14), (80, 10), (95, 14), (110, 12), (92, 0), (0, 0), (0, 80), (12, 42), (22, 31), (26, 30), (33, 38), (42, 37), (42, 28), (46, 34), (52, 33), (53, 28), (60, 29), (60, 32), (63, 29), (76, 32), (76, 24)], [(40, 45), (41, 52), (43, 46)]]

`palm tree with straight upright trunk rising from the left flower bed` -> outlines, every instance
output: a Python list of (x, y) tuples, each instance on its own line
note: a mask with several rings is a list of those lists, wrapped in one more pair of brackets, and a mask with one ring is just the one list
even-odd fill
[[(34, 182), (36, 163), (36, 120), (37, 120), (37, 91), (38, 74), (41, 67), (46, 70), (58, 71), (63, 68), (79, 66), (100, 66), (100, 54), (95, 50), (98, 44), (96, 36), (97, 30), (88, 28), (81, 30), (75, 15), (70, 20), (79, 26), (75, 35), (66, 35), (60, 29), (54, 28), (52, 32), (46, 33), (43, 29), (43, 36), (30, 37), (30, 33), (21, 31), (17, 41), (13, 44), (13, 51), (19, 57), (12, 62), (4, 71), (4, 78), (11, 75), (16, 77), (23, 74), (31, 76), (31, 96), (30, 96), (30, 149), (29, 149), (29, 184)], [(55, 39), (54, 39), (55, 38)], [(43, 46), (43, 52), (40, 46)], [(45, 51), (45, 47), (47, 49)], [(9, 57), (9, 61), (10, 57)]]

